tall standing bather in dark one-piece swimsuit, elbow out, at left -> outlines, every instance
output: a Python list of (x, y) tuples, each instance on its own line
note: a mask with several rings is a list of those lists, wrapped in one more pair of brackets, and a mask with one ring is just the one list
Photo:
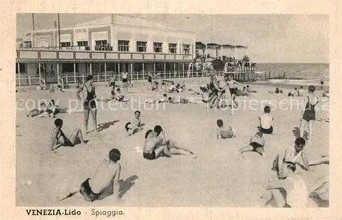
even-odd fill
[[(84, 129), (86, 134), (88, 134), (88, 120), (89, 113), (92, 114), (92, 124), (94, 125), (94, 132), (97, 133), (97, 121), (96, 121), (96, 94), (95, 94), (95, 85), (93, 85), (94, 79), (92, 75), (87, 76), (87, 81), (84, 84), (79, 85), (79, 89), (76, 92), (77, 98), (81, 101), (83, 105), (84, 112)], [(83, 96), (81, 98), (80, 93), (82, 92)]]

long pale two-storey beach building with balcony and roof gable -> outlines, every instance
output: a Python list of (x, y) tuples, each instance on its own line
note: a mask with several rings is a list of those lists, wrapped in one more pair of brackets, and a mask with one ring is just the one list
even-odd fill
[(127, 71), (140, 79), (146, 72), (184, 72), (195, 46), (191, 31), (129, 16), (107, 16), (60, 31), (31, 31), (17, 38), (16, 84), (61, 83), (66, 78), (73, 83), (88, 73), (106, 79), (110, 72)]

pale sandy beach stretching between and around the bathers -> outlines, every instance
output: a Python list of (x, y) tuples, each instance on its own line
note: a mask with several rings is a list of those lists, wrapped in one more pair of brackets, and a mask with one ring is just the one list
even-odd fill
[[(179, 81), (183, 81), (179, 80)], [(198, 81), (189, 80), (187, 87), (198, 90)], [(272, 85), (253, 85), (259, 93), (245, 100), (271, 100), (272, 102), (287, 100), (288, 97), (267, 94), (274, 89)], [(287, 90), (285, 94), (287, 94)], [(320, 96), (317, 91), (317, 95)], [(109, 98), (109, 88), (96, 87), (99, 97)], [(142, 85), (131, 89), (129, 99), (159, 98), (163, 92), (147, 91)], [(186, 96), (186, 92), (181, 96)], [(174, 94), (177, 96), (179, 94)], [(18, 92), (16, 98), (27, 100), (34, 98), (57, 101), (60, 107), (68, 106), (68, 99), (75, 99), (75, 89), (66, 93), (48, 91)], [(239, 97), (239, 100), (244, 98)], [(298, 101), (299, 98), (293, 98)], [(285, 102), (285, 101), (283, 101)], [(17, 102), (23, 107), (25, 102)], [(31, 102), (32, 105), (32, 102)], [(321, 102), (321, 107), (326, 102)], [(103, 102), (107, 107), (108, 103)], [(80, 195), (75, 195), (63, 202), (57, 198), (68, 193), (68, 189), (77, 187), (90, 178), (109, 150), (118, 148), (122, 157), (120, 164), (120, 202), (106, 197), (104, 200), (92, 202), (92, 206), (228, 206), (228, 207), (259, 207), (258, 197), (263, 193), (263, 186), (268, 178), (275, 178), (271, 170), (272, 161), (278, 152), (293, 146), (295, 127), (299, 126), (300, 110), (294, 105), (292, 110), (274, 109), (274, 135), (264, 135), (265, 152), (261, 157), (255, 152), (246, 152), (243, 156), (235, 152), (248, 144), (251, 135), (257, 131), (258, 115), (263, 113), (264, 105), (257, 104), (254, 110), (241, 109), (230, 115), (230, 110), (207, 110), (205, 105), (172, 105), (159, 104), (141, 105), (144, 130), (131, 137), (126, 134), (124, 124), (134, 115), (135, 109), (126, 104), (126, 109), (111, 111), (98, 110), (98, 124), (101, 132), (90, 133), (86, 146), (59, 148), (49, 151), (49, 139), (54, 127), (53, 118), (27, 118), (29, 110), (17, 110), (16, 113), (16, 205), (17, 206), (89, 206)], [(289, 106), (289, 105), (287, 105)], [(28, 105), (30, 107), (30, 105)], [(164, 107), (164, 108), (163, 108)], [(64, 120), (63, 130), (70, 135), (74, 128), (83, 129), (83, 113), (60, 113), (57, 118)], [(319, 111), (318, 118), (328, 118), (328, 105)], [(222, 119), (226, 126), (231, 125), (237, 130), (234, 139), (216, 140), (216, 120)], [(149, 128), (160, 124), (170, 139), (176, 140), (180, 146), (192, 150), (197, 159), (191, 156), (172, 156), (147, 161), (142, 158), (144, 133)], [(315, 122), (313, 139), (305, 150), (308, 161), (328, 155), (328, 122)], [(92, 130), (92, 120), (89, 128)], [(315, 178), (328, 176), (328, 165), (311, 167), (313, 171), (300, 170), (308, 185)], [(328, 199), (328, 195), (326, 195)], [(311, 201), (311, 206), (317, 204)]]

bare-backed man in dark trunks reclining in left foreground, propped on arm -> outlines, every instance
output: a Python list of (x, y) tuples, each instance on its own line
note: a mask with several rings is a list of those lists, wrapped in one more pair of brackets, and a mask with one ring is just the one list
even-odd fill
[[(77, 190), (73, 191), (73, 193), (69, 193), (69, 195), (62, 200), (65, 200), (76, 193), (80, 193), (84, 200), (94, 202), (95, 200), (102, 200), (104, 197), (110, 195), (110, 191), (113, 192), (114, 198), (118, 200), (121, 172), (121, 165), (118, 161), (120, 160), (120, 157), (121, 153), (118, 149), (114, 148), (110, 150), (108, 159), (100, 164), (94, 176), (92, 176), (92, 178), (87, 178), (81, 183), (80, 187), (77, 187)], [(111, 187), (112, 190), (110, 190), (109, 187)]]

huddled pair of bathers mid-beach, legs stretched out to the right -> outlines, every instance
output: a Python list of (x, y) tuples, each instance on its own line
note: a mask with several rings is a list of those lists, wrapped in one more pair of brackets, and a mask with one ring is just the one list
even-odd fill
[(175, 141), (166, 139), (165, 131), (157, 125), (153, 130), (148, 130), (145, 135), (143, 157), (147, 160), (157, 159), (161, 153), (171, 157), (172, 154), (192, 155), (195, 154), (188, 150), (183, 150), (177, 146)]

